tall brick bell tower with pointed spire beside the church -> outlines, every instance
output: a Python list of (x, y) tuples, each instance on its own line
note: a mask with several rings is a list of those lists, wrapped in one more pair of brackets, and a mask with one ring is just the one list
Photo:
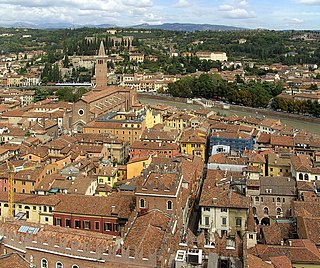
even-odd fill
[(107, 55), (103, 41), (100, 43), (99, 53), (96, 58), (96, 89), (102, 90), (108, 84)]

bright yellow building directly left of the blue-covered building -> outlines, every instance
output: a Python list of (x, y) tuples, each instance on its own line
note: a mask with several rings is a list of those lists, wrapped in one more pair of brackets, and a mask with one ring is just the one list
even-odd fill
[(182, 133), (180, 139), (180, 149), (184, 154), (201, 156), (202, 160), (206, 157), (207, 137), (202, 131), (188, 129)]

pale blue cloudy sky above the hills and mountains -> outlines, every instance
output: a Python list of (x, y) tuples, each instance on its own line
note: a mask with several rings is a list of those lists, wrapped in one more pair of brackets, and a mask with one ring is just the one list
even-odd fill
[(0, 0), (0, 24), (15, 22), (320, 30), (320, 0)]

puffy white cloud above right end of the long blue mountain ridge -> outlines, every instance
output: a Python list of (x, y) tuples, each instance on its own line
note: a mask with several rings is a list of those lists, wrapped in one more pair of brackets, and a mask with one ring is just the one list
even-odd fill
[(219, 6), (218, 11), (229, 19), (250, 19), (256, 17), (255, 12), (249, 10), (248, 1), (234, 2), (232, 5), (222, 4)]

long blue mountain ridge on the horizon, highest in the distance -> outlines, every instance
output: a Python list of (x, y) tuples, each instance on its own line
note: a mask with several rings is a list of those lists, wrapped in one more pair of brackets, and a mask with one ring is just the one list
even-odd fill
[(159, 25), (150, 25), (148, 23), (131, 26), (131, 28), (139, 29), (160, 29), (167, 31), (239, 31), (246, 30), (246, 28), (226, 26), (226, 25), (213, 25), (213, 24), (193, 24), (193, 23), (163, 23)]

